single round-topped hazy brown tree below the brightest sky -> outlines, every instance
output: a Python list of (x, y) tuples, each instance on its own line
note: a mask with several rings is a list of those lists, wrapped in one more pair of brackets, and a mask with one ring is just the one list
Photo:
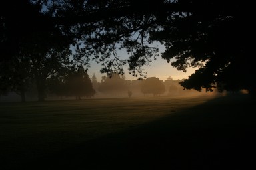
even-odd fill
[(149, 77), (144, 80), (141, 86), (141, 92), (143, 94), (153, 94), (153, 96), (158, 96), (165, 92), (165, 86), (163, 82), (156, 77)]

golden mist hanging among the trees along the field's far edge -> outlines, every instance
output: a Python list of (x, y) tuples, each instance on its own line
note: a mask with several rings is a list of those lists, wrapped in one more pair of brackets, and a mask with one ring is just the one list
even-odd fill
[[(91, 83), (79, 84), (77, 79), (70, 80), (69, 84), (75, 85), (75, 94), (67, 92), (70, 88), (63, 88), (65, 92), (57, 94), (53, 88), (60, 89), (59, 84), (51, 89), (47, 88), (45, 92), (46, 100), (83, 100), (85, 98), (179, 98), (179, 97), (199, 97), (199, 96), (225, 96), (227, 92), (219, 93), (217, 90), (206, 92), (204, 89), (201, 92), (197, 90), (186, 90), (179, 82), (182, 80), (173, 80), (171, 77), (167, 80), (159, 80), (157, 77), (149, 77), (145, 80), (126, 80), (125, 76), (113, 74), (110, 76), (102, 76), (101, 80), (97, 80), (95, 75), (90, 78)], [(90, 85), (91, 84), (91, 85)], [(71, 86), (71, 85), (69, 85)], [(84, 91), (91, 88), (94, 94), (85, 96)], [(87, 90), (88, 91), (88, 90)], [(241, 91), (246, 93), (245, 90)], [(37, 101), (37, 89), (33, 85), (25, 93), (27, 101)], [(77, 97), (79, 96), (79, 98)], [(19, 102), (20, 96), (15, 92), (9, 92), (7, 95), (0, 96), (0, 102)]]

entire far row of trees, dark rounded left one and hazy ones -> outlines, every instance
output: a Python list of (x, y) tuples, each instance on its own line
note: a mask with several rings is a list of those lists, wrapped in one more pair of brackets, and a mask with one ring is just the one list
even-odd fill
[[(70, 71), (63, 76), (52, 76), (47, 80), (44, 98), (47, 100), (63, 100), (104, 97), (150, 97), (150, 96), (196, 96), (203, 92), (184, 90), (179, 84), (182, 80), (159, 80), (149, 77), (145, 80), (126, 80), (125, 76), (112, 74), (97, 80), (95, 74), (91, 78), (82, 67)], [(15, 90), (2, 94), (0, 101), (39, 100), (37, 84), (31, 82), (25, 89), (24, 96)]]

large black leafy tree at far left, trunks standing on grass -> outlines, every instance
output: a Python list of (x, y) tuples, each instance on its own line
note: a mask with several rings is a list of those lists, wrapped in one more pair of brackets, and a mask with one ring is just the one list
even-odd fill
[[(12, 78), (12, 81), (7, 83), (11, 90), (19, 91), (25, 100), (24, 91), (29, 88), (26, 82), (29, 79), (34, 80), (37, 85), (38, 100), (43, 101), (46, 97), (47, 79), (69, 63), (71, 54), (69, 45), (72, 39), (46, 19), (52, 13), (42, 12), (43, 4), (39, 3), (40, 1), (31, 2), (7, 3), (11, 9), (27, 10), (21, 15), (11, 17), (17, 11), (6, 11), (6, 9), (1, 13), (3, 41), (1, 41), (0, 65), (2, 69), (2, 66), (13, 66), (5, 74)], [(20, 25), (22, 26), (19, 27)]]

